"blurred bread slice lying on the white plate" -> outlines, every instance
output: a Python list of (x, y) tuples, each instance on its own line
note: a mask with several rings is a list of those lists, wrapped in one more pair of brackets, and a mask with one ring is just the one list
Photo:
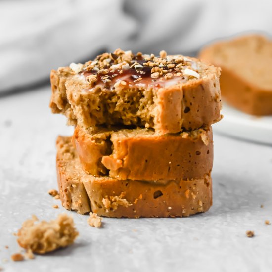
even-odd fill
[(224, 99), (253, 115), (272, 114), (272, 41), (260, 35), (208, 45), (202, 60), (222, 68), (220, 86)]

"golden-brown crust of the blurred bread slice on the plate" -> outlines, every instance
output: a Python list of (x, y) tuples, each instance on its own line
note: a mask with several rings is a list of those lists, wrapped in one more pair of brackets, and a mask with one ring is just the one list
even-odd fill
[[(244, 36), (233, 40), (208, 45), (200, 51), (199, 58), (201, 58), (203, 61), (208, 61), (213, 65), (221, 67), (221, 92), (224, 99), (230, 105), (252, 115), (271, 115), (272, 86), (269, 90), (264, 89), (257, 84), (253, 84), (247, 81), (245, 77), (241, 77), (236, 73), (235, 62), (233, 63), (232, 69), (229, 69), (229, 67), (224, 65), (224, 61), (219, 61), (214, 57), (214, 54), (216, 54), (217, 50), (224, 52), (224, 48), (226, 48), (228, 45), (237, 44), (238, 46), (240, 43), (254, 40), (256, 40), (256, 42), (259, 44), (268, 43), (268, 40), (265, 37), (259, 35)], [(270, 43), (272, 47), (272, 42)], [(243, 52), (241, 51), (241, 54), (242, 53)], [(255, 52), (252, 51), (252, 53)], [(243, 63), (245, 64), (244, 69), (246, 70), (247, 66), (250, 65), (247, 63), (246, 56), (244, 56)], [(258, 64), (254, 63), (253, 65), (257, 66)], [(266, 73), (270, 72), (266, 71)]]

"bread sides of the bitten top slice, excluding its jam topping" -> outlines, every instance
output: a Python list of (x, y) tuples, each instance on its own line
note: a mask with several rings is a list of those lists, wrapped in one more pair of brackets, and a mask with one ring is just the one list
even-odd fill
[[(222, 118), (220, 115), (220, 69), (214, 66), (205, 65), (203, 68), (205, 76), (190, 79), (182, 84), (173, 83), (163, 88), (136, 88), (133, 96), (136, 97), (137, 93), (140, 95), (138, 101), (134, 101), (134, 105), (145, 99), (144, 107), (146, 108), (142, 111), (142, 106), (139, 105), (141, 110), (136, 107), (136, 110), (126, 115), (127, 117), (131, 115), (126, 120), (118, 117), (122, 112), (117, 106), (120, 98), (119, 102), (118, 100), (110, 102), (112, 104), (110, 110), (105, 109), (98, 102), (101, 97), (108, 97), (115, 91), (111, 90), (111, 94), (108, 90), (103, 91), (99, 88), (88, 91), (90, 87), (84, 77), (69, 69), (69, 67), (62, 67), (57, 71), (51, 71), (52, 96), (50, 102), (53, 113), (66, 115), (68, 124), (78, 124), (88, 128), (101, 124), (117, 125), (123, 122), (124, 125), (151, 127), (164, 135), (178, 133), (184, 129), (197, 129), (203, 125), (210, 126)], [(146, 94), (143, 89), (148, 89)], [(121, 96), (117, 94), (117, 97), (121, 97), (124, 101), (127, 99), (125, 94)]]

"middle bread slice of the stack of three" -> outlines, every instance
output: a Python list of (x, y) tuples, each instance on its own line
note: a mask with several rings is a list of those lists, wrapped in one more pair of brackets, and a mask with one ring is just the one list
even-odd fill
[(83, 168), (118, 180), (195, 179), (213, 167), (212, 128), (160, 136), (151, 129), (76, 127)]

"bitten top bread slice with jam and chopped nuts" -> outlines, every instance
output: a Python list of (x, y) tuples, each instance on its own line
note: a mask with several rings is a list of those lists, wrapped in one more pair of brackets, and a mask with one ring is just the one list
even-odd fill
[(195, 58), (120, 49), (51, 71), (50, 107), (68, 124), (135, 125), (177, 133), (221, 119), (220, 70)]

